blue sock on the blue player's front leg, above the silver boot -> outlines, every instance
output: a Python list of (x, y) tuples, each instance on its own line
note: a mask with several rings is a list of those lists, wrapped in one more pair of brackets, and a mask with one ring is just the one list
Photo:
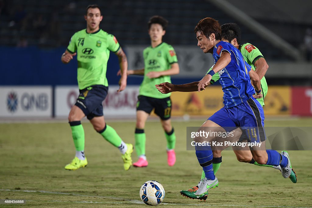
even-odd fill
[(202, 166), (205, 176), (208, 180), (214, 180), (215, 175), (212, 168), (212, 150), (196, 150), (197, 160)]

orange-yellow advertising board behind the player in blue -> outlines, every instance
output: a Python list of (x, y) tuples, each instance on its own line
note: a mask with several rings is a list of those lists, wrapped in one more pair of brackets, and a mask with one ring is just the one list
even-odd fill
[[(223, 107), (221, 86), (209, 86), (201, 92), (173, 92), (172, 115), (210, 116)], [(291, 112), (291, 88), (288, 86), (269, 86), (264, 99), (265, 115), (289, 115)]]

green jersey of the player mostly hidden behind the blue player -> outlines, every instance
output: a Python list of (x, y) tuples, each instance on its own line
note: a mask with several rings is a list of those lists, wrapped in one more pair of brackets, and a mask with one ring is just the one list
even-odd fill
[[(241, 54), (243, 55), (245, 61), (249, 65), (251, 65), (251, 68), (253, 70), (255, 70), (256, 67), (254, 64), (255, 64), (256, 60), (258, 60), (259, 58), (263, 58), (262, 53), (259, 51), (259, 49), (256, 48), (256, 46), (251, 45), (250, 43), (245, 43), (239, 47), (239, 50), (241, 51)], [(208, 70), (208, 72), (210, 70), (212, 70), (213, 66)], [(215, 83), (217, 80), (219, 80), (219, 78), (220, 77), (219, 77), (218, 73), (214, 74), (212, 76), (210, 83), (211, 84)], [(262, 89), (263, 97), (258, 98), (257, 100), (259, 101), (259, 103), (262, 106), (264, 106), (264, 98), (266, 97), (266, 94), (268, 92), (268, 85), (266, 83), (266, 78), (264, 76), (262, 77), (262, 79), (260, 81), (261, 81), (261, 89)]]

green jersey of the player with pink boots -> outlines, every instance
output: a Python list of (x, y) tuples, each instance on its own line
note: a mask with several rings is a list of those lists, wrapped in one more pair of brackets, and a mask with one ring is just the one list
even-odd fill
[(143, 51), (144, 57), (144, 79), (140, 85), (139, 94), (152, 98), (167, 98), (171, 93), (162, 94), (156, 89), (155, 85), (163, 82), (170, 82), (170, 76), (160, 76), (158, 78), (149, 78), (146, 76), (151, 71), (165, 71), (171, 68), (171, 64), (177, 63), (177, 55), (173, 47), (162, 42), (158, 46), (152, 48), (149, 46)]

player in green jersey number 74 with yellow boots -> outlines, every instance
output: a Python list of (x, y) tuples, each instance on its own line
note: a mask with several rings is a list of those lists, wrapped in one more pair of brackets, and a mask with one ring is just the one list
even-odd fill
[(128, 62), (115, 36), (100, 29), (99, 25), (102, 19), (100, 7), (89, 5), (85, 15), (87, 28), (76, 32), (71, 37), (65, 53), (61, 56), (61, 61), (67, 64), (73, 59), (73, 56), (77, 55), (77, 80), (80, 91), (77, 102), (71, 108), (68, 116), (76, 147), (76, 156), (71, 163), (65, 166), (66, 170), (77, 170), (88, 164), (84, 153), (85, 133), (80, 122), (85, 116), (103, 138), (119, 149), (124, 169), (129, 170), (132, 165), (133, 145), (124, 143), (115, 129), (105, 123), (103, 115), (102, 102), (108, 92), (106, 70), (110, 51), (118, 56), (122, 72), (118, 92), (126, 88)]

